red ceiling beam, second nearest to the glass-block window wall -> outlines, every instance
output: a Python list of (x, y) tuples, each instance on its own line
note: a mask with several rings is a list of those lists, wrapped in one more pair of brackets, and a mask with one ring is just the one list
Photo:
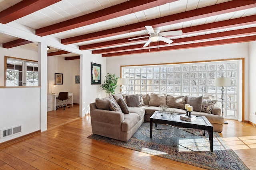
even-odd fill
[(122, 51), (131, 51), (131, 50), (140, 50), (140, 49), (152, 49), (152, 48), (162, 48), (167, 46), (174, 46), (179, 45), (180, 43), (197, 43), (199, 41), (210, 41), (214, 39), (221, 39), (221, 38), (230, 38), (234, 36), (246, 36), (246, 35), (254, 35), (256, 34), (255, 27), (252, 28), (245, 28), (245, 29), (238, 29), (238, 30), (232, 30), (232, 31), (224, 31), (220, 33), (211, 33), (206, 35), (198, 35), (193, 37), (186, 37), (186, 38), (180, 38), (180, 39), (173, 39), (174, 43), (166, 44), (163, 41), (153, 42), (150, 43), (150, 47), (143, 47), (143, 44), (139, 45), (130, 45), (130, 46), (124, 46), (124, 47), (116, 47), (116, 48), (110, 48), (110, 49), (101, 49), (101, 50), (94, 50), (92, 51), (92, 54), (105, 54), (105, 53), (116, 53), (116, 52), (122, 52)]

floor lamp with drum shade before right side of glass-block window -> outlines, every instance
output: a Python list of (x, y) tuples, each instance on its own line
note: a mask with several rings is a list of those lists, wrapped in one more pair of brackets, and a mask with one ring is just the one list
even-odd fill
[[(217, 77), (214, 79), (215, 83), (214, 85), (215, 86), (219, 86), (219, 87), (222, 87), (221, 88), (221, 92), (222, 92), (222, 95), (221, 95), (221, 98), (222, 98), (222, 117), (224, 117), (224, 87), (227, 87), (227, 86), (232, 86), (232, 83), (231, 83), (231, 78), (230, 77)], [(224, 122), (225, 124), (228, 124), (227, 121)]]

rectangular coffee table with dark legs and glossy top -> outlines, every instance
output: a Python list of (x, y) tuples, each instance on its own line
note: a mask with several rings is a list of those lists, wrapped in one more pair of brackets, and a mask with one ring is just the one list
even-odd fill
[(191, 127), (194, 129), (202, 129), (203, 135), (204, 130), (208, 131), (209, 134), (209, 141), (210, 141), (210, 149), (211, 152), (213, 151), (213, 127), (212, 124), (208, 121), (208, 119), (205, 116), (196, 116), (196, 120), (189, 122), (189, 121), (183, 121), (180, 120), (180, 115), (175, 113), (175, 117), (169, 117), (167, 113), (164, 113), (162, 115), (161, 112), (155, 111), (154, 114), (150, 117), (150, 138), (152, 138), (152, 130), (153, 130), (153, 123), (161, 123), (161, 124), (167, 124), (167, 125), (176, 125), (179, 127)]

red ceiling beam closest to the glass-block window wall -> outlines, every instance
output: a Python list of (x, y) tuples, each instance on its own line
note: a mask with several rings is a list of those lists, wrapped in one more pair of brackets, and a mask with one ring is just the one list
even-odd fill
[(177, 49), (190, 49), (190, 48), (197, 48), (197, 47), (208, 47), (208, 46), (213, 46), (213, 45), (243, 43), (243, 42), (249, 42), (249, 41), (256, 41), (256, 35), (248, 36), (248, 37), (233, 38), (233, 39), (208, 41), (208, 42), (202, 42), (202, 43), (175, 45), (175, 46), (169, 46), (169, 47), (162, 47), (160, 49), (154, 48), (154, 49), (150, 49), (150, 51), (149, 51), (149, 49), (142, 49), (142, 50), (135, 50), (135, 51), (124, 51), (124, 52), (118, 52), (118, 53), (108, 53), (108, 54), (102, 54), (102, 57), (115, 57), (115, 56), (121, 56), (121, 55), (153, 53), (153, 52), (170, 51), (170, 50), (177, 50)]

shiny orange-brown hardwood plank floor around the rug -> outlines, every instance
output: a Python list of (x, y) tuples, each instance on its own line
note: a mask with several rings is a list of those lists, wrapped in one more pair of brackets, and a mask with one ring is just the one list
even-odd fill
[[(228, 120), (220, 133), (236, 154), (256, 170), (256, 129)], [(48, 130), (0, 147), (2, 170), (202, 170), (196, 166), (88, 139), (90, 115), (79, 117), (79, 106), (48, 112)]]

